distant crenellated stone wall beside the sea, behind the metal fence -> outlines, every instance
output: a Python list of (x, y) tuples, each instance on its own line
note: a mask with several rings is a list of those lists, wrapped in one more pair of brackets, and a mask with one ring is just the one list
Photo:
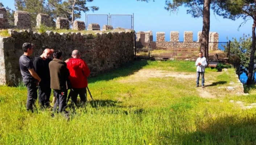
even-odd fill
[[(152, 31), (151, 31), (152, 33)], [(136, 48), (148, 48), (148, 43), (151, 43), (151, 48), (154, 49), (162, 49), (162, 48), (173, 48), (174, 45), (176, 48), (198, 48), (200, 47), (200, 39), (202, 38), (202, 31), (197, 33), (198, 40), (193, 41), (193, 32), (185, 31), (184, 32), (184, 41), (179, 42), (179, 32), (171, 31), (170, 32), (170, 42), (165, 41), (165, 32), (157, 32), (156, 33), (156, 42), (153, 42), (150, 38), (150, 42), (148, 42), (148, 37), (142, 31), (136, 33)], [(139, 39), (138, 39), (139, 38)], [(219, 34), (216, 32), (209, 33), (209, 50), (218, 50), (218, 42), (219, 42)], [(140, 44), (140, 45), (137, 45)]]

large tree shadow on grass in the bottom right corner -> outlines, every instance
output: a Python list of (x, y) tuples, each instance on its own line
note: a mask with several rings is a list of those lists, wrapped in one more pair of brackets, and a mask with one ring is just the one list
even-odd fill
[[(179, 136), (184, 144), (256, 144), (256, 117), (239, 115), (209, 119), (197, 124), (197, 131)], [(185, 141), (185, 142), (184, 142)]]

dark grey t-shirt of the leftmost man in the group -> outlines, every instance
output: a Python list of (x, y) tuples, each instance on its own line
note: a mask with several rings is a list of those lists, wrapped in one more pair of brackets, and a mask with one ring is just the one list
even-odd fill
[(33, 78), (30, 72), (28, 71), (29, 69), (34, 68), (30, 57), (26, 55), (22, 55), (20, 56), (18, 63), (20, 64), (20, 72), (21, 72), (22, 78)]

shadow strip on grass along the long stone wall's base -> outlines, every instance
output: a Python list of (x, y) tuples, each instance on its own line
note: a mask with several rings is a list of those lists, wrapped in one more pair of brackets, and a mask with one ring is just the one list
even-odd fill
[(134, 61), (132, 63), (124, 65), (121, 68), (105, 73), (104, 75), (99, 74), (96, 77), (88, 78), (88, 82), (93, 83), (93, 82), (102, 81), (102, 80), (108, 81), (116, 77), (128, 76), (139, 71), (141, 68), (143, 68), (147, 64), (148, 64), (147, 60)]

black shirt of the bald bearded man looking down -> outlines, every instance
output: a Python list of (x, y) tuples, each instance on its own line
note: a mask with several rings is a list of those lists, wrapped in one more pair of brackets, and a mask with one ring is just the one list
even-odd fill
[(33, 62), (35, 72), (41, 78), (40, 84), (46, 84), (50, 86), (50, 61), (51, 59), (43, 60), (42, 57), (38, 56)]

